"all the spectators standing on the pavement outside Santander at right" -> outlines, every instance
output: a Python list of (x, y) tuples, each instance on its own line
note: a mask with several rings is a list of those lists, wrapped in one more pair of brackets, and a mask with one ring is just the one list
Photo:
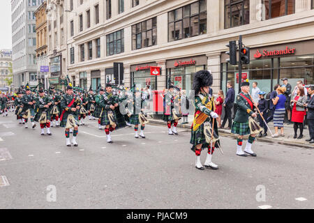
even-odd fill
[[(284, 122), (288, 125), (293, 123), (294, 139), (302, 139), (304, 137), (303, 131), (307, 123), (310, 138), (306, 139), (306, 141), (314, 143), (314, 86), (310, 86), (306, 89), (303, 82), (300, 80), (297, 82), (297, 85), (294, 86), (294, 89), (292, 89), (287, 78), (281, 80), (283, 84), (276, 84), (274, 91), (269, 93), (260, 91), (257, 82), (253, 82), (252, 84), (251, 96), (260, 110), (260, 114), (263, 116), (258, 116), (260, 126), (264, 129), (264, 132), (260, 132), (259, 137), (267, 136), (268, 128), (263, 119), (266, 123), (274, 121), (274, 137), (285, 136)], [(227, 93), (225, 97), (222, 90), (218, 92), (218, 98), (216, 98), (216, 113), (219, 116), (218, 128), (224, 128), (227, 121), (228, 126), (226, 129), (231, 128), (232, 108), (234, 109), (234, 114), (237, 109), (236, 104), (234, 104), (234, 96), (235, 92), (232, 82), (227, 82)], [(223, 107), (225, 108), (225, 116), (223, 123), (221, 123)], [(280, 134), (278, 134), (279, 130)]]

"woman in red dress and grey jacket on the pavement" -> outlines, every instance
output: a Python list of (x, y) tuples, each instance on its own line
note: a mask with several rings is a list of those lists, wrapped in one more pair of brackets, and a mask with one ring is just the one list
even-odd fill
[(305, 116), (305, 107), (306, 104), (306, 96), (304, 95), (304, 88), (298, 88), (296, 91), (297, 95), (292, 96), (291, 107), (292, 107), (292, 118), (291, 121), (294, 123), (294, 137), (293, 139), (297, 138), (297, 130), (300, 129), (300, 134), (298, 139), (303, 138), (303, 130), (304, 130), (304, 116)]

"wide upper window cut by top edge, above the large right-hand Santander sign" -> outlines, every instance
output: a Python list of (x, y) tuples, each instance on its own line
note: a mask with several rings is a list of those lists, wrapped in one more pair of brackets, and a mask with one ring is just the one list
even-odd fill
[(262, 0), (262, 20), (294, 13), (295, 0)]

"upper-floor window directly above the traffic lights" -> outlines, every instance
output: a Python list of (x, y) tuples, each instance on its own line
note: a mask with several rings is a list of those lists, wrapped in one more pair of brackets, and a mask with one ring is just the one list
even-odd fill
[[(267, 0), (268, 1), (268, 0)], [(225, 0), (225, 29), (250, 22), (249, 0)]]

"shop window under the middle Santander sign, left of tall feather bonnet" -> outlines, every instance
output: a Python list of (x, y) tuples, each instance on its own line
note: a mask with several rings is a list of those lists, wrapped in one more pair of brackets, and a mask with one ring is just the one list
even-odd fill
[(200, 65), (179, 68), (167, 68), (166, 88), (168, 87), (168, 82), (170, 78), (171, 83), (174, 84), (174, 86), (177, 86), (179, 89), (189, 92), (190, 89), (192, 89), (194, 74), (199, 70), (207, 70), (207, 66)]

